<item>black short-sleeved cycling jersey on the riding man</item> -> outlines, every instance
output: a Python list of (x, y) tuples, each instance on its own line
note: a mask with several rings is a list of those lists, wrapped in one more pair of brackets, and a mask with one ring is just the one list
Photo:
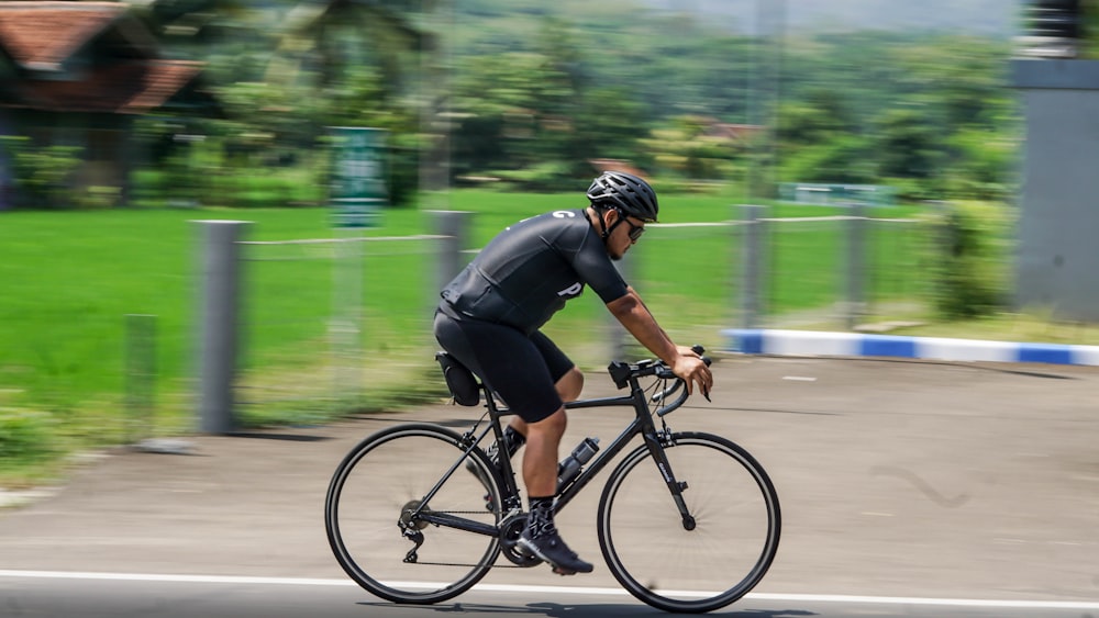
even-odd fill
[(485, 247), (442, 292), (460, 315), (531, 334), (590, 285), (603, 303), (626, 293), (584, 210), (523, 220)]

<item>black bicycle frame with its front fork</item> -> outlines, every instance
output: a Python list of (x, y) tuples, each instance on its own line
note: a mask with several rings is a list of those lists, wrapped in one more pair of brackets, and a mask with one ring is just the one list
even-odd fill
[[(567, 402), (565, 407), (567, 409), (580, 409), (589, 407), (611, 407), (611, 406), (631, 406), (634, 408), (635, 418), (630, 422), (630, 424), (622, 430), (621, 434), (610, 446), (604, 449), (600, 449), (599, 453), (588, 462), (580, 473), (567, 485), (562, 487), (557, 494), (557, 499), (554, 503), (554, 513), (559, 513), (569, 502), (579, 494), (584, 487), (591, 482), (592, 479), (603, 468), (606, 468), (615, 456), (622, 452), (631, 440), (635, 436), (641, 436), (644, 440), (645, 446), (648, 448), (653, 460), (656, 462), (660, 474), (664, 477), (664, 482), (668, 486), (668, 491), (671, 493), (671, 497), (679, 509), (680, 516), (682, 517), (684, 527), (686, 529), (693, 528), (693, 517), (687, 509), (687, 505), (682, 498), (682, 492), (686, 490), (685, 483), (679, 483), (676, 481), (675, 475), (671, 471), (671, 465), (668, 462), (667, 456), (664, 453), (664, 447), (670, 440), (670, 431), (666, 429), (657, 429), (656, 423), (653, 420), (653, 413), (648, 406), (648, 400), (645, 395), (645, 390), (642, 389), (640, 384), (640, 375), (630, 371), (626, 374), (614, 375), (614, 366), (611, 369), (612, 377), (614, 377), (615, 382), (620, 385), (628, 384), (630, 386), (630, 393), (625, 395), (618, 395), (612, 397), (597, 397), (590, 400), (577, 400), (573, 402)], [(667, 397), (676, 390), (681, 387), (680, 383), (674, 384), (671, 387), (664, 390), (659, 395), (654, 395), (654, 401), (659, 397), (660, 400)], [(470, 429), (464, 435), (464, 445), (466, 447), (465, 452), (458, 458), (457, 461), (451, 467), (451, 469), (443, 474), (442, 479), (435, 484), (435, 486), (428, 492), (424, 496), (421, 506), (417, 508), (417, 512), (412, 514), (413, 518), (419, 518), (423, 521), (439, 526), (447, 526), (452, 528), (457, 528), (466, 530), (469, 532), (476, 532), (479, 535), (487, 536), (498, 536), (500, 533), (500, 528), (498, 526), (490, 526), (479, 521), (474, 521), (465, 517), (458, 517), (454, 514), (447, 513), (435, 513), (431, 510), (424, 510), (426, 505), (431, 502), (431, 498), (435, 495), (439, 488), (449, 479), (451, 474), (469, 457), (469, 453), (477, 447), (481, 439), (489, 431), (493, 431), (497, 440), (503, 439), (503, 427), (501, 418), (511, 414), (509, 409), (501, 409), (496, 405), (496, 401), (492, 398), (491, 393), (488, 389), (481, 384), (479, 386), (485, 395), (486, 406), (489, 412), (491, 422), (489, 426), (480, 431), (476, 437), (473, 432), (476, 430)], [(664, 411), (657, 412), (658, 416), (664, 416), (665, 414), (678, 408), (687, 400), (687, 390), (682, 389), (682, 393), (670, 404), (665, 406)], [(502, 501), (502, 508), (504, 513), (521, 510), (522, 502), (519, 497), (519, 488), (515, 484), (514, 469), (511, 465), (511, 461), (508, 458), (501, 458), (500, 468), (502, 472), (502, 487), (504, 494), (500, 496)]]

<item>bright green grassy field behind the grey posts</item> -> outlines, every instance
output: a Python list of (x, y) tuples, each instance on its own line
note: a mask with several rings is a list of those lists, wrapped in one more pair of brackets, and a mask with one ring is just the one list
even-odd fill
[[(740, 228), (676, 224), (724, 222), (740, 211), (730, 196), (662, 198), (667, 225), (654, 226), (634, 247), (623, 262), (628, 279), (676, 339), (715, 349), (720, 330), (735, 325)], [(430, 234), (430, 209), (460, 210), (474, 213), (479, 247), (519, 218), (584, 205), (582, 195), (479, 191), (426, 196), (425, 203), (387, 211), (367, 235)], [(773, 216), (831, 213), (782, 206)], [(325, 209), (0, 213), (0, 484), (25, 480), (62, 453), (195, 428), (195, 220), (253, 222), (249, 243), (334, 236)], [(819, 228), (807, 233), (786, 225), (776, 224), (771, 235), (771, 310), (834, 303), (842, 228), (813, 223), (807, 225)], [(909, 226), (873, 236), (875, 259), (892, 272), (876, 279), (877, 297), (921, 300), (919, 234)], [(352, 250), (362, 251), (362, 261), (347, 256)], [(244, 256), (238, 395), (245, 423), (318, 422), (440, 394), (429, 330), (432, 241), (249, 244)], [(153, 316), (147, 319), (155, 324), (145, 341), (155, 361), (136, 373), (126, 369), (132, 314)], [(334, 317), (348, 317), (357, 333), (340, 335)], [(610, 327), (606, 311), (586, 294), (548, 330), (590, 369), (608, 360)], [(155, 378), (140, 375), (145, 370)], [(135, 404), (135, 392), (152, 398)]]

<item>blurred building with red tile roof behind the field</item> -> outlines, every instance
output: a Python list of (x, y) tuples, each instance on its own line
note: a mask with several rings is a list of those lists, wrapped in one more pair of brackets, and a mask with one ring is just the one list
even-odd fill
[[(201, 70), (162, 58), (129, 4), (0, 1), (0, 135), (81, 147), (77, 186), (116, 188), (123, 203), (133, 120), (176, 106), (217, 110)], [(0, 155), (0, 183), (11, 177), (4, 167)]]

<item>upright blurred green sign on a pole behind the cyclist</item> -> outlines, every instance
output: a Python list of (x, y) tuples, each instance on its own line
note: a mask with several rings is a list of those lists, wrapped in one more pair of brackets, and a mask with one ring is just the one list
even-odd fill
[(332, 205), (334, 227), (378, 225), (386, 191), (386, 132), (380, 128), (334, 126)]

